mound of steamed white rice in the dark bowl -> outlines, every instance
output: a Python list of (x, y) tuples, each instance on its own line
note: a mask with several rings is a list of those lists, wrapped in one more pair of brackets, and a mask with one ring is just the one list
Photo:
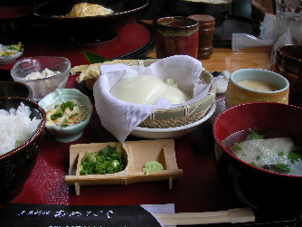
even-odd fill
[(0, 156), (21, 146), (33, 136), (41, 119), (31, 119), (30, 114), (31, 110), (23, 102), (18, 109), (0, 109)]

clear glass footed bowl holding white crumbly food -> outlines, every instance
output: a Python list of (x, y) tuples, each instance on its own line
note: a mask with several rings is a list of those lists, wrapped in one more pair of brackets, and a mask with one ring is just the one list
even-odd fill
[[(61, 73), (49, 78), (26, 80), (24, 79), (31, 72), (42, 72), (45, 69), (60, 71)], [(33, 100), (39, 101), (47, 94), (56, 89), (63, 89), (69, 78), (71, 61), (63, 57), (38, 56), (24, 58), (17, 61), (11, 71), (15, 81), (27, 84), (33, 90)]]

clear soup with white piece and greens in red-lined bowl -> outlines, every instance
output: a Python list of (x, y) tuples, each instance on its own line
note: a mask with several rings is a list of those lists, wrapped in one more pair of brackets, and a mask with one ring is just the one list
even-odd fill
[(302, 147), (291, 137), (269, 137), (260, 128), (239, 131), (222, 141), (241, 161), (283, 175), (302, 175)]

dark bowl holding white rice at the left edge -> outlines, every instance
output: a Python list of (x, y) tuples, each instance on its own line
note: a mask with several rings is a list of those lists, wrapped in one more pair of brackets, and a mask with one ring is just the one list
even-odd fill
[[(35, 165), (42, 130), (46, 122), (45, 111), (31, 99), (0, 97), (0, 109), (17, 109), (21, 102), (31, 110), (30, 118), (35, 117), (42, 121), (33, 136), (24, 144), (0, 156), (0, 204), (9, 202), (21, 193)], [(17, 124), (17, 122), (13, 123)]]

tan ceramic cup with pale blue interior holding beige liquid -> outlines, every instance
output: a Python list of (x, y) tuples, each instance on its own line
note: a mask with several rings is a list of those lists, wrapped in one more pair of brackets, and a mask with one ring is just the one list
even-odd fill
[[(243, 87), (241, 80), (264, 80), (275, 85), (279, 90), (260, 91)], [(288, 104), (289, 82), (273, 71), (260, 69), (242, 69), (231, 73), (225, 96), (226, 108), (248, 102), (278, 102)]]

